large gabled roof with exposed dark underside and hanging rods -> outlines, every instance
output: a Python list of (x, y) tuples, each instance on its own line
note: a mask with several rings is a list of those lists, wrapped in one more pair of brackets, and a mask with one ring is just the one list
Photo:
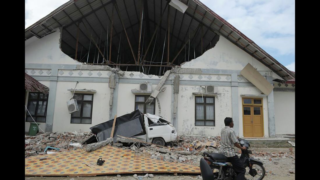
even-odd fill
[(58, 27), (62, 51), (88, 64), (163, 75), (202, 55), (223, 36), (284, 80), (295, 78), (199, 0), (70, 0), (25, 29), (25, 40)]

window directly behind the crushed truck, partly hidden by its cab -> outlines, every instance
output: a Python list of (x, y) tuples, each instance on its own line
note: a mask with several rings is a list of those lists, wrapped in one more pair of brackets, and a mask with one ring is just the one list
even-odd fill
[(150, 104), (145, 103), (150, 95), (136, 95), (134, 110), (139, 109), (142, 113), (155, 114), (156, 113), (156, 105), (155, 100), (153, 100)]

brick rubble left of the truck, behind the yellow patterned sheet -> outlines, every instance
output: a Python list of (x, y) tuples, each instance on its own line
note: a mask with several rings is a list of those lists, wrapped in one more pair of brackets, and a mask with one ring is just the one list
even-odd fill
[(76, 131), (25, 135), (25, 157), (45, 154), (48, 151), (54, 153), (79, 149), (82, 147), (81, 143), (91, 136), (91, 132), (78, 133)]

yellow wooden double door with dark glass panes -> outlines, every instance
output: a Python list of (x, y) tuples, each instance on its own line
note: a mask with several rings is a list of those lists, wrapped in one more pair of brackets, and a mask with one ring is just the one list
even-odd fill
[(244, 137), (263, 137), (262, 99), (243, 98)]

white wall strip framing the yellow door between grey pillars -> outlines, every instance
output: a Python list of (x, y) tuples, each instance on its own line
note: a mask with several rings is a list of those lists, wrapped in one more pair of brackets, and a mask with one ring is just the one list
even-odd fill
[[(238, 87), (238, 110), (239, 110), (239, 137), (243, 137), (243, 112), (242, 112), (242, 97), (240, 95), (252, 94), (261, 95), (261, 91), (257, 87)], [(269, 125), (268, 125), (268, 99), (262, 98), (263, 103), (263, 131), (264, 137), (269, 137)]]

